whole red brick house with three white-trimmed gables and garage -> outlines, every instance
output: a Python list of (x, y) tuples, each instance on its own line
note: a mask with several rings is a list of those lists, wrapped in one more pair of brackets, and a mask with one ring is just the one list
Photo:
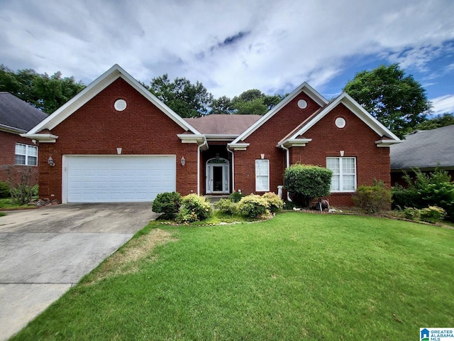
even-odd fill
[(62, 202), (277, 193), (299, 162), (333, 170), (338, 206), (358, 185), (389, 185), (400, 141), (348, 94), (328, 102), (307, 83), (262, 117), (182, 119), (118, 65), (23, 136), (40, 141), (40, 197)]

